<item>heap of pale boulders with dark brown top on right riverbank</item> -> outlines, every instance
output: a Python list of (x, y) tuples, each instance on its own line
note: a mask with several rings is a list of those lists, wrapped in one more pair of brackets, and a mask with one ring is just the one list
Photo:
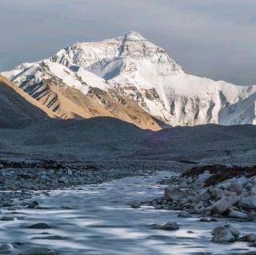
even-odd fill
[(256, 166), (194, 167), (162, 183), (164, 196), (150, 202), (156, 209), (256, 221)]

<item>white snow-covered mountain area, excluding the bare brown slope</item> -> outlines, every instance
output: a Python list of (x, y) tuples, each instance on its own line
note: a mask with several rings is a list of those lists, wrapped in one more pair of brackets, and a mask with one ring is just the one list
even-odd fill
[[(42, 64), (54, 77), (32, 71)], [(256, 86), (186, 74), (165, 50), (134, 31), (102, 42), (76, 43), (47, 61), (25, 63), (4, 75), (34, 98), (45, 90), (42, 80), (56, 77), (84, 95), (98, 88), (171, 126), (256, 124)]]

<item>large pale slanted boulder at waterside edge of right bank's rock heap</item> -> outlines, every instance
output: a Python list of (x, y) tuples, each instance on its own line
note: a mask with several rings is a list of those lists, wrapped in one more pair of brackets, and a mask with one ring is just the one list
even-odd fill
[(222, 199), (218, 200), (206, 208), (206, 210), (212, 210), (219, 214), (225, 213), (232, 205), (235, 205), (239, 201), (240, 197), (238, 195), (231, 195), (228, 197), (223, 197)]

